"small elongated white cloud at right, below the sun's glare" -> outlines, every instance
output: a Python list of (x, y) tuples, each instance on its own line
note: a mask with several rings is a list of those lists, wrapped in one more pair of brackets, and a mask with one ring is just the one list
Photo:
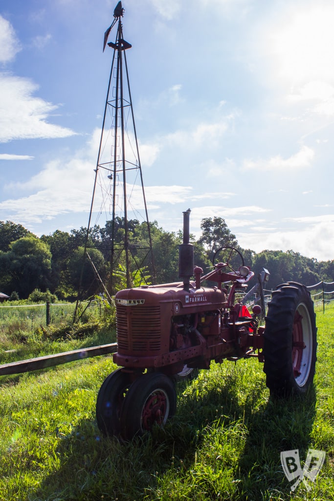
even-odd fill
[(258, 160), (244, 160), (243, 169), (245, 170), (260, 170), (260, 171), (276, 171), (281, 172), (282, 170), (297, 170), (304, 169), (311, 166), (311, 162), (314, 157), (314, 151), (308, 146), (302, 146), (300, 150), (291, 155), (289, 158), (282, 158), (280, 155), (276, 155), (269, 159), (258, 159)]

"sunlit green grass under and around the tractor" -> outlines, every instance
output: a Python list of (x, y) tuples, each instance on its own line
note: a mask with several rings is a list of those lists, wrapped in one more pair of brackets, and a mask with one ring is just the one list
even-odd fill
[[(0, 499), (4, 501), (334, 499), (334, 308), (317, 312), (314, 387), (273, 401), (262, 364), (225, 361), (178, 386), (176, 415), (130, 443), (100, 435), (95, 401), (111, 357), (0, 380)], [(52, 351), (112, 342), (51, 343)], [(44, 347), (46, 350), (46, 346)], [(324, 450), (309, 492), (290, 493), (280, 452)]]

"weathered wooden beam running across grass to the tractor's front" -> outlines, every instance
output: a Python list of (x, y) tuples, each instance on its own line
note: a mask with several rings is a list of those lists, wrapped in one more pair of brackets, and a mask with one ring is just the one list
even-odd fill
[(75, 360), (83, 360), (84, 358), (97, 357), (99, 355), (108, 355), (116, 351), (117, 343), (111, 343), (108, 345), (92, 346), (91, 348), (82, 348), (81, 350), (56, 353), (55, 355), (46, 355), (45, 357), (31, 358), (29, 360), (20, 360), (19, 362), (0, 365), (0, 376), (46, 369), (47, 367), (66, 364), (68, 362), (74, 362)]

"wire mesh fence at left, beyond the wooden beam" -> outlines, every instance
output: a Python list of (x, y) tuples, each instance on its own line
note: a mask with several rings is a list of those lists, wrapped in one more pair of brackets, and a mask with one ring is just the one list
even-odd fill
[[(3, 306), (0, 305), (0, 331), (9, 325), (17, 330), (31, 331), (48, 325), (61, 325), (73, 322), (75, 303), (44, 303), (38, 305)], [(93, 312), (94, 309), (94, 312)], [(95, 310), (97, 310), (95, 312)], [(100, 315), (99, 307), (93, 304), (90, 313)]]

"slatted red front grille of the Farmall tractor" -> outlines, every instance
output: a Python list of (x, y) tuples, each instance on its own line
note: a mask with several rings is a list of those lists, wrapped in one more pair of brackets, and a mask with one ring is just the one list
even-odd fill
[(117, 349), (121, 354), (155, 354), (161, 348), (159, 306), (116, 307)]

